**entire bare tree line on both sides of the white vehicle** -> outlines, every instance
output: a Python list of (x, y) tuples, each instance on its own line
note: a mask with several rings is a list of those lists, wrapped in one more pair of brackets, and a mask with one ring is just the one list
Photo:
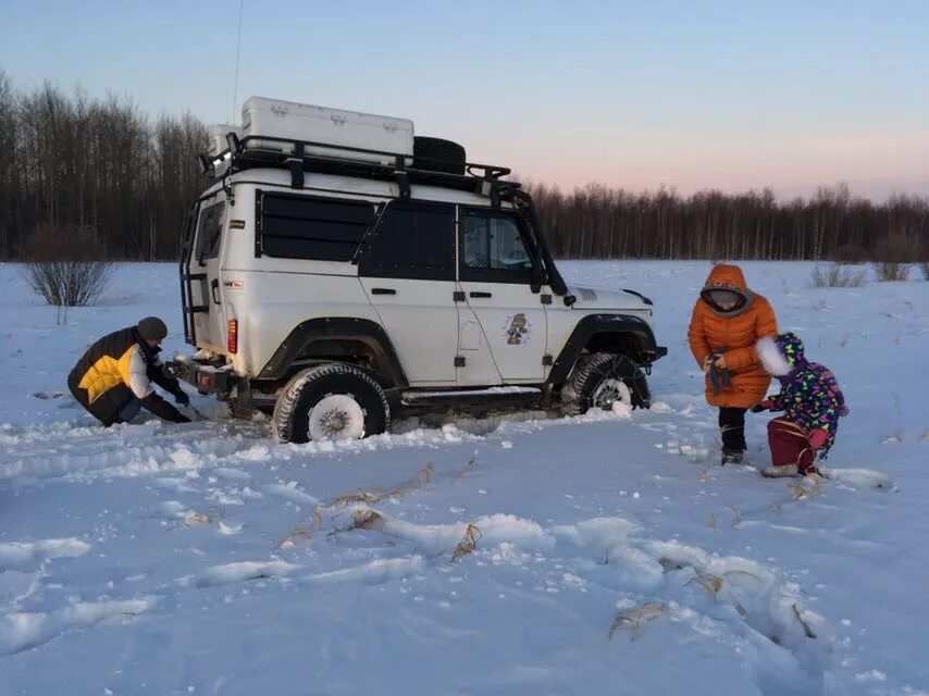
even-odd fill
[[(58, 228), (80, 229), (108, 259), (176, 259), (207, 145), (189, 113), (152, 119), (131, 100), (48, 83), (17, 91), (0, 71), (0, 260)], [(528, 188), (559, 258), (914, 261), (929, 249), (929, 199), (917, 196), (872, 202), (843, 185), (789, 201), (770, 189)]]

